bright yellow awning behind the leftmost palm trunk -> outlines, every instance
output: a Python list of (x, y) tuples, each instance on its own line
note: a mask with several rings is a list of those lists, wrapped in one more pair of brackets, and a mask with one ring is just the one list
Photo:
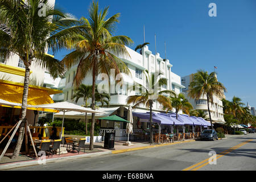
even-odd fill
[[(48, 92), (49, 91), (49, 92)], [(57, 92), (59, 91), (59, 92)], [(60, 90), (40, 88), (39, 86), (31, 86), (28, 88), (27, 105), (43, 105), (54, 103), (49, 94), (61, 93)], [(0, 98), (5, 101), (22, 104), (23, 84), (0, 80)], [(14, 108), (21, 108), (14, 106)], [(30, 110), (40, 110), (59, 113), (59, 110), (43, 109), (43, 108), (27, 108)]]

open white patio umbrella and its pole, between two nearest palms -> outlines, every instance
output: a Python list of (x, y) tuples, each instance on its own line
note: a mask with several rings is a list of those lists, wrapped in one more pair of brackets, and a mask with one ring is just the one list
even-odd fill
[[(68, 112), (68, 111), (77, 111), (77, 112), (80, 112), (80, 113), (102, 113), (100, 111), (85, 108), (85, 107), (82, 107), (82, 106), (79, 106), (79, 105), (76, 105), (76, 104), (72, 104), (70, 102), (56, 102), (56, 103), (53, 103), (53, 104), (38, 105), (38, 106), (32, 106), (32, 107), (44, 108), (44, 109), (56, 109), (56, 110), (59, 110), (59, 111), (63, 111), (63, 121), (62, 121), (62, 126), (61, 126), (60, 139), (62, 138), (64, 117), (65, 117), (66, 112)], [(103, 114), (105, 114), (105, 113), (103, 113)]]

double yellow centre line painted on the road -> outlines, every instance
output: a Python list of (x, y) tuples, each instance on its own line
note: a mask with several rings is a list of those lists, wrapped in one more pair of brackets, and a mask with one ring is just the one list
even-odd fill
[[(250, 142), (251, 140), (253, 140), (253, 139), (247, 140), (246, 142), (240, 143), (240, 144), (238, 144), (238, 145), (236, 145), (236, 146), (234, 146), (234, 147), (232, 147), (232, 148), (229, 148), (228, 150), (226, 150), (226, 151), (224, 151), (224, 152), (221, 152), (220, 154), (218, 154), (218, 155), (216, 156), (216, 159), (221, 158), (222, 156), (224, 156), (225, 154), (228, 154), (229, 152), (231, 152), (232, 150), (235, 150), (236, 148), (242, 147), (243, 145), (245, 145), (246, 143)], [(210, 158), (212, 158), (212, 157), (210, 157)], [(210, 158), (205, 159), (205, 160), (203, 160), (203, 161), (200, 162), (200, 163), (194, 164), (194, 165), (191, 166), (191, 167), (185, 168), (185, 169), (183, 169), (182, 171), (189, 171), (189, 170), (192, 169), (192, 168), (194, 168), (194, 169), (192, 169), (192, 171), (196, 171), (197, 169), (200, 169), (200, 168), (206, 166), (207, 164), (209, 164), (208, 161), (209, 161)], [(200, 165), (201, 165), (201, 166), (200, 166)], [(198, 166), (198, 167), (197, 167), (197, 166)], [(195, 168), (195, 167), (197, 167), (197, 168)]]

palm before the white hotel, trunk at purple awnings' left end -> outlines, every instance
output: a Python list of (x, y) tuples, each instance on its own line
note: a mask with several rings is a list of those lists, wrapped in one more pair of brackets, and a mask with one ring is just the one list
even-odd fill
[(145, 105), (147, 108), (150, 108), (150, 144), (153, 143), (153, 133), (152, 133), (152, 106), (155, 101), (162, 104), (164, 107), (169, 106), (170, 101), (168, 100), (168, 96), (163, 96), (162, 94), (175, 94), (171, 90), (162, 90), (163, 85), (167, 85), (166, 78), (159, 78), (161, 73), (148, 73), (147, 70), (143, 71), (146, 76), (146, 86), (141, 84), (135, 84), (135, 87), (140, 89), (138, 95), (129, 96), (127, 98), (127, 104), (133, 104), (133, 107), (137, 107), (139, 105)]

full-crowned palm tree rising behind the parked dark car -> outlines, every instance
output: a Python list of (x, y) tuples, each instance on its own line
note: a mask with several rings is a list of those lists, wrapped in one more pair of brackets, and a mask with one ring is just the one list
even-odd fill
[[(226, 92), (225, 86), (217, 80), (215, 72), (208, 74), (203, 70), (197, 71), (193, 75), (193, 81), (190, 84), (188, 96), (194, 99), (200, 99), (202, 96), (207, 97), (208, 113), (210, 124), (212, 125), (212, 117), (210, 115), (209, 102), (213, 104), (213, 96), (221, 97)], [(213, 129), (213, 125), (211, 126)]]

